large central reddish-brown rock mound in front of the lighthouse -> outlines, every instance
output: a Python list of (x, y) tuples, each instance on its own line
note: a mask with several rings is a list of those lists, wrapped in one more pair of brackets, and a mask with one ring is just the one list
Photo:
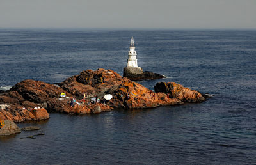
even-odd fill
[(166, 94), (153, 93), (141, 84), (130, 81), (127, 77), (121, 77), (113, 70), (86, 70), (66, 79), (59, 85), (77, 98), (83, 98), (85, 94), (89, 98), (97, 95), (100, 100), (103, 100), (104, 95), (111, 94), (113, 98), (106, 102), (111, 107), (140, 109), (182, 104), (177, 99), (164, 99), (167, 98)]

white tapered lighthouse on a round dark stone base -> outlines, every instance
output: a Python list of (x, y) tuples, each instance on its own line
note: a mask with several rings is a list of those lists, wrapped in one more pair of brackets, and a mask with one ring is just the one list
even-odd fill
[(143, 74), (141, 67), (138, 67), (137, 52), (135, 51), (134, 39), (131, 38), (130, 51), (128, 52), (127, 67), (124, 67), (124, 77), (136, 77)]

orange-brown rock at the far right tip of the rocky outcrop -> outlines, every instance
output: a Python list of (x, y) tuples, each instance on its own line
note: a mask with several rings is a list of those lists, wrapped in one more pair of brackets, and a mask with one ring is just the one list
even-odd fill
[(154, 88), (156, 92), (170, 93), (171, 98), (177, 98), (182, 102), (203, 102), (205, 100), (198, 91), (191, 90), (174, 82), (159, 82)]

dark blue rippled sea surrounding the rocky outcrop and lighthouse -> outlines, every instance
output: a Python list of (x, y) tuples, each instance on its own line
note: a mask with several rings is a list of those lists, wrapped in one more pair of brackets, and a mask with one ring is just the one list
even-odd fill
[(41, 130), (0, 138), (0, 164), (256, 164), (256, 31), (0, 29), (0, 90), (86, 69), (122, 75), (131, 36), (138, 65), (166, 76), (138, 83), (174, 81), (212, 97), (18, 123)]

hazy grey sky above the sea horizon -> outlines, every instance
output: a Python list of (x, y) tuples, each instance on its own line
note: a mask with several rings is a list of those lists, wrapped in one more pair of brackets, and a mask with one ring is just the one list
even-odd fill
[(256, 0), (0, 0), (5, 27), (256, 29)]

